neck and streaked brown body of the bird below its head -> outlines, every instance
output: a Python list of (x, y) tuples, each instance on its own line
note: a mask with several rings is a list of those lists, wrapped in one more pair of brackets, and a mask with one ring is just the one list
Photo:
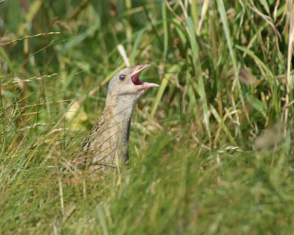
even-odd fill
[(105, 104), (98, 123), (82, 147), (83, 157), (80, 161), (86, 162), (89, 157), (90, 170), (106, 171), (109, 167), (116, 167), (115, 154), (119, 160), (128, 158), (128, 139), (133, 107), (121, 110), (123, 105), (116, 104), (111, 99), (107, 99)]

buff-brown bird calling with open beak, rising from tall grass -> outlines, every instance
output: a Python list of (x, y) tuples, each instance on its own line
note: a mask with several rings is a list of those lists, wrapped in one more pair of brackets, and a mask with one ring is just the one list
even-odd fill
[(150, 63), (129, 66), (118, 71), (108, 84), (104, 110), (90, 131), (79, 152), (72, 160), (86, 166), (91, 172), (108, 174), (111, 169), (129, 160), (129, 135), (131, 118), (138, 100), (148, 88), (159, 87), (143, 82), (139, 74)]

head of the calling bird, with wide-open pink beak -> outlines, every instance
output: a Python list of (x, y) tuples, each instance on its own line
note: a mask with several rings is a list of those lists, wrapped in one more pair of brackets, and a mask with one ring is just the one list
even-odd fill
[(113, 99), (128, 98), (137, 103), (148, 88), (159, 86), (139, 79), (139, 73), (149, 66), (151, 64), (134, 65), (118, 71), (109, 82), (108, 96)]

